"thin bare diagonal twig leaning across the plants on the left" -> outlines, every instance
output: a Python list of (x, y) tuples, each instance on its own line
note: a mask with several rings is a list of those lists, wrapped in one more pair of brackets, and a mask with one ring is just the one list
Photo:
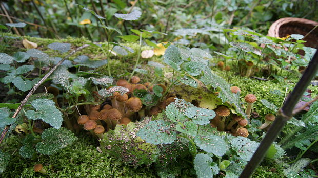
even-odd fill
[[(13, 114), (12, 118), (16, 118), (16, 116), (21, 112), (21, 109), (23, 108), (23, 106), (27, 103), (28, 99), (30, 98), (30, 96), (36, 91), (36, 89), (57, 69), (57, 67), (59, 65), (61, 65), (66, 59), (68, 59), (70, 56), (72, 56), (73, 54), (75, 54), (77, 51), (80, 51), (86, 47), (88, 47), (88, 44), (84, 44), (81, 47), (78, 47), (77, 49), (73, 50), (70, 54), (68, 54), (67, 56), (65, 56), (61, 61), (59, 61), (39, 82), (37, 82), (37, 84), (35, 84), (33, 86), (33, 88), (30, 90), (30, 92), (28, 93), (28, 95), (25, 97), (24, 100), (21, 101), (20, 106), (16, 109), (15, 113)], [(3, 141), (3, 139), (5, 138), (7, 132), (9, 131), (11, 125), (7, 125), (5, 127), (5, 129), (3, 130), (3, 132), (1, 133), (0, 136), (0, 143)]]

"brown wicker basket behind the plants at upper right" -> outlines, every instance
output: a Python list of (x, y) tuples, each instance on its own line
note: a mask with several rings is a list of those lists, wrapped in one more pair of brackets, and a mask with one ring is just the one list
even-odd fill
[[(268, 30), (268, 36), (285, 37), (291, 34), (306, 35), (318, 25), (318, 22), (305, 18), (287, 17), (275, 21)], [(318, 28), (311, 32), (305, 39), (305, 46), (318, 49)], [(303, 52), (300, 52), (303, 53)]]

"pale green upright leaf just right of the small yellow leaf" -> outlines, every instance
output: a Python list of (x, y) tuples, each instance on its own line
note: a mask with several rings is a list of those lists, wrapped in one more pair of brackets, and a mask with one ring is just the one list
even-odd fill
[(163, 62), (171, 66), (172, 69), (180, 71), (180, 65), (183, 63), (183, 60), (180, 57), (178, 47), (173, 44), (170, 45), (165, 51)]

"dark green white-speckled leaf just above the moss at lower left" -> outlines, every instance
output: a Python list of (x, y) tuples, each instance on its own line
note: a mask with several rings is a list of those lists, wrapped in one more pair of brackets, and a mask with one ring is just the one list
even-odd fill
[(52, 155), (77, 140), (74, 133), (62, 127), (48, 128), (42, 133), (42, 142), (36, 144), (36, 151), (40, 154)]

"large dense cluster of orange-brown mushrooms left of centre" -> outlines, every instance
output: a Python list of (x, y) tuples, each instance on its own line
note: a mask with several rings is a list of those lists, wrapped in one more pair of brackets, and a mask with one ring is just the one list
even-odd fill
[[(171, 96), (167, 97), (156, 106), (150, 108), (146, 107), (142, 104), (140, 98), (133, 95), (133, 91), (144, 89), (149, 93), (152, 93), (153, 86), (158, 85), (163, 88), (164, 93), (166, 86), (163, 84), (152, 85), (149, 82), (139, 84), (139, 82), (140, 78), (137, 76), (131, 78), (131, 83), (124, 79), (118, 80), (116, 85), (128, 88), (129, 92), (123, 95), (119, 92), (114, 92), (113, 95), (108, 98), (110, 102), (107, 104), (89, 106), (89, 108), (86, 109), (88, 114), (79, 116), (77, 123), (83, 125), (84, 130), (88, 130), (92, 135), (96, 135), (102, 139), (105, 130), (113, 130), (117, 124), (127, 125), (129, 122), (140, 120), (145, 116), (155, 116), (158, 113), (161, 113), (167, 105), (175, 101), (175, 97)], [(106, 125), (106, 129), (103, 125)]]

